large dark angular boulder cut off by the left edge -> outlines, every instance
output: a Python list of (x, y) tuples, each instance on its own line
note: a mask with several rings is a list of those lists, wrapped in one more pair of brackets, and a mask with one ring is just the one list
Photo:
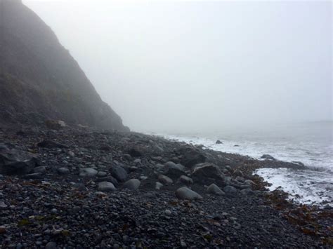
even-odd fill
[(3, 147), (0, 150), (0, 174), (26, 175), (38, 166), (38, 160), (32, 154)]

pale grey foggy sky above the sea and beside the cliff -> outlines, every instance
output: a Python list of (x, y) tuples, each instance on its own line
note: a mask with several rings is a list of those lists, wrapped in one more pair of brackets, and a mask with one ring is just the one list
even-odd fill
[(29, 1), (131, 130), (332, 120), (330, 1)]

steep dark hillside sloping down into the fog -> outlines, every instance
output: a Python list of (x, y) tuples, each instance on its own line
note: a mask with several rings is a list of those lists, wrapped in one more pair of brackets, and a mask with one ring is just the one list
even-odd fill
[(43, 119), (128, 129), (50, 27), (21, 1), (0, 0), (0, 122)]

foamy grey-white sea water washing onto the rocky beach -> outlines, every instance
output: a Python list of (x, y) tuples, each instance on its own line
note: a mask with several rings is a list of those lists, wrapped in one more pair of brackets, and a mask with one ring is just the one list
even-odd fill
[[(333, 206), (333, 122), (308, 122), (288, 125), (225, 130), (211, 133), (167, 134), (167, 139), (203, 144), (221, 152), (260, 159), (270, 154), (281, 161), (299, 161), (306, 170), (263, 168), (256, 171), (272, 186), (289, 193), (298, 203)], [(221, 140), (223, 144), (216, 144)], [(235, 145), (238, 145), (237, 147)]]

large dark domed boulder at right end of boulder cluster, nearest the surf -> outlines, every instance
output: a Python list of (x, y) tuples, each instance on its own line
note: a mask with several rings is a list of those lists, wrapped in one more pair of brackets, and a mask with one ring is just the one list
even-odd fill
[(192, 168), (192, 177), (202, 180), (202, 178), (223, 179), (224, 175), (218, 166), (213, 163), (198, 163)]

